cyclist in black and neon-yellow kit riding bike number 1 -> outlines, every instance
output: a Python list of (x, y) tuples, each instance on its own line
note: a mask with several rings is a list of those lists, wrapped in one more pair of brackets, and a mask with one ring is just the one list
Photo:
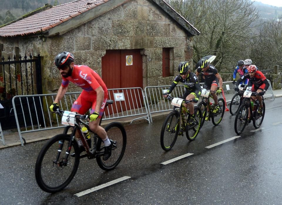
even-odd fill
[[(177, 86), (179, 82), (183, 83), (185, 87), (185, 93), (182, 96), (184, 100), (192, 100), (194, 103), (198, 102), (199, 97), (201, 95), (202, 89), (199, 83), (198, 78), (190, 69), (190, 66), (187, 61), (181, 62), (178, 65), (177, 71), (179, 75), (174, 78), (173, 83), (168, 88), (167, 93), (164, 94), (166, 98), (169, 93)], [(192, 124), (194, 122), (194, 105), (192, 103), (184, 104), (184, 106), (189, 108), (189, 112), (192, 113), (188, 124)]]

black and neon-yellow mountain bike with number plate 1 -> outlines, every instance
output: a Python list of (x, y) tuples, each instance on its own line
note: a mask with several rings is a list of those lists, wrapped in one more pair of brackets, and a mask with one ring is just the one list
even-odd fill
[[(169, 151), (174, 146), (177, 136), (186, 132), (186, 137), (189, 141), (196, 139), (202, 120), (202, 113), (198, 107), (194, 107), (194, 122), (188, 124), (187, 120), (190, 119), (191, 114), (189, 110), (183, 106), (184, 103), (188, 104), (192, 100), (183, 100), (182, 98), (172, 98), (167, 96), (168, 100), (172, 100), (173, 110), (164, 120), (161, 130), (161, 146), (164, 151)], [(187, 116), (184, 114), (186, 112)]]

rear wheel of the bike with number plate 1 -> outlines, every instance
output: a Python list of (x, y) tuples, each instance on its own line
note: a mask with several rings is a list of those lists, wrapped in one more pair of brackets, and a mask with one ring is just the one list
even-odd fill
[(201, 128), (202, 112), (199, 107), (194, 107), (194, 115), (193, 124), (186, 124), (186, 137), (189, 141), (196, 139)]

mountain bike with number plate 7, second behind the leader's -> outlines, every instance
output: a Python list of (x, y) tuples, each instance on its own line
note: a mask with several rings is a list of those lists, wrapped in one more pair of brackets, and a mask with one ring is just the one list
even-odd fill
[(215, 105), (214, 105), (214, 103), (212, 104), (209, 100), (212, 97), (211, 93), (216, 93), (216, 91), (211, 91), (211, 90), (205, 89), (205, 88), (202, 89), (202, 93), (201, 93), (202, 101), (199, 102), (199, 104), (197, 105), (202, 112), (201, 127), (203, 127), (203, 124), (205, 122), (205, 118), (207, 116), (207, 106), (209, 106), (209, 117), (212, 118), (212, 123), (214, 125), (218, 125), (221, 122), (223, 115), (224, 115), (225, 102), (224, 102), (223, 98), (217, 99), (217, 102), (218, 102), (218, 105), (219, 105), (219, 111), (216, 112), (216, 113), (213, 113)]

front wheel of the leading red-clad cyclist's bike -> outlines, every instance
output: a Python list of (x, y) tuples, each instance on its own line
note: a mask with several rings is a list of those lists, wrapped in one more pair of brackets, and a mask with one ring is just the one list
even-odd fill
[[(74, 141), (68, 150), (70, 140), (70, 135), (59, 134), (41, 149), (35, 164), (35, 179), (43, 191), (61, 191), (73, 179), (79, 165), (79, 148)], [(73, 157), (68, 155), (66, 159), (66, 153), (75, 154)]]

